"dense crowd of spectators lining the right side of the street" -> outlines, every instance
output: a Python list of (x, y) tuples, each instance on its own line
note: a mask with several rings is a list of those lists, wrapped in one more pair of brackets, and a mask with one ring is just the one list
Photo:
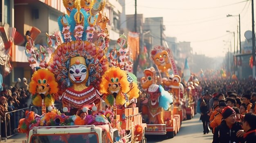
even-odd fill
[(203, 97), (198, 106), (203, 133), (212, 130), (213, 143), (255, 143), (255, 81), (211, 79), (200, 85)]

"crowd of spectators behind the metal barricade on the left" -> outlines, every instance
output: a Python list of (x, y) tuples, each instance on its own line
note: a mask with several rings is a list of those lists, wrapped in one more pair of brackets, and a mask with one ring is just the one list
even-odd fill
[[(26, 78), (23, 78), (22, 80), (18, 78), (18, 81), (16, 82), (14, 87), (9, 86), (9, 88), (2, 89), (2, 91), (0, 92), (0, 116), (2, 138), (6, 137), (6, 131), (7, 136), (13, 134), (13, 130), (18, 127), (19, 120), (24, 118), (25, 110), (12, 112), (6, 115), (5, 113), (31, 106), (31, 97), (32, 95), (29, 93), (29, 85), (27, 84)], [(7, 130), (5, 128), (6, 125)]]

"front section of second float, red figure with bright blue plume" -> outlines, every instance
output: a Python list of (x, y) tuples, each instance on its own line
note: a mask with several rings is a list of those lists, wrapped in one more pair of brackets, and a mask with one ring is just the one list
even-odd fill
[(141, 87), (145, 96), (141, 97), (141, 105), (143, 120), (147, 123), (145, 134), (163, 134), (173, 138), (180, 129), (177, 124), (180, 120), (177, 118), (176, 121), (173, 114), (173, 95), (157, 84), (155, 68), (145, 69), (144, 76)]

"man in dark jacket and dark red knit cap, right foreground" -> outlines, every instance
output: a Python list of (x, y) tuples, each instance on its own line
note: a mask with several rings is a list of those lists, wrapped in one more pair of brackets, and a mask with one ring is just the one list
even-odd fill
[(212, 143), (239, 143), (243, 138), (238, 138), (236, 132), (241, 130), (241, 125), (236, 121), (236, 112), (227, 106), (222, 111), (224, 121), (215, 128)]

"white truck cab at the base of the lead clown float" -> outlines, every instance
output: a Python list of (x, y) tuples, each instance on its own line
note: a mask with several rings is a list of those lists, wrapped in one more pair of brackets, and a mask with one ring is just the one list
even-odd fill
[(115, 143), (119, 139), (117, 129), (109, 125), (71, 125), (34, 127), (27, 143)]

